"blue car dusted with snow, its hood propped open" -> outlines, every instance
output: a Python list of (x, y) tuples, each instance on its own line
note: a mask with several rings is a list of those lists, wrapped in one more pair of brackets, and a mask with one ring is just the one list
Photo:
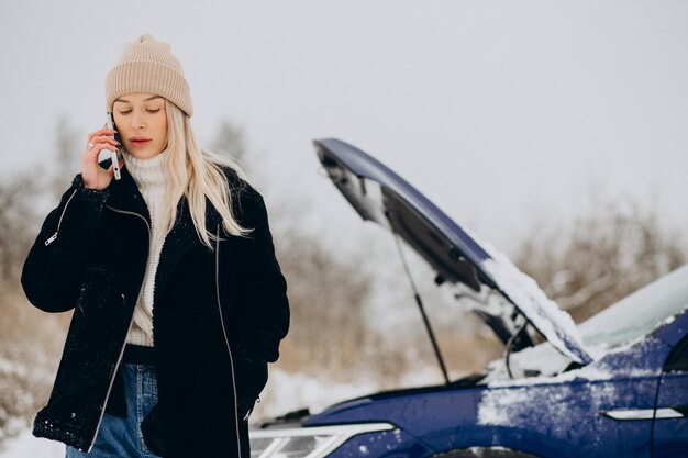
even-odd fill
[(688, 457), (688, 265), (575, 325), (385, 165), (337, 139), (314, 144), (360, 216), (415, 249), (506, 356), (450, 380), (435, 346), (445, 384), (286, 415), (252, 431), (253, 457)]

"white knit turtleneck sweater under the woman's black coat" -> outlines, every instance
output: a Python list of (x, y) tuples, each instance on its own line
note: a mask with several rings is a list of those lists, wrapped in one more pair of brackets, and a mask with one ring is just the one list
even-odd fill
[(151, 213), (151, 245), (148, 264), (143, 279), (138, 302), (134, 309), (134, 322), (126, 336), (126, 343), (153, 346), (153, 292), (155, 272), (160, 259), (160, 252), (167, 235), (169, 214), (163, 208), (165, 200), (165, 152), (148, 159), (137, 159), (124, 153), (124, 163), (136, 181)]

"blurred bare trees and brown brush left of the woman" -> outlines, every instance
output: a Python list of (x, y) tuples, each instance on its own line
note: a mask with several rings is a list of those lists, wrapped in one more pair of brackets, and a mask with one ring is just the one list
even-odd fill
[(78, 138), (65, 115), (58, 118), (54, 146), (46, 155), (51, 160), (0, 182), (0, 446), (45, 404), (70, 315), (34, 309), (20, 286), (44, 212), (78, 168)]

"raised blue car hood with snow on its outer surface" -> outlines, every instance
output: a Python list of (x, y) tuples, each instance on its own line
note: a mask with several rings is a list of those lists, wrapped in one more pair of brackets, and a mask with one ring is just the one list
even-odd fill
[(320, 163), (364, 220), (398, 234), (450, 282), (497, 336), (518, 350), (533, 345), (526, 325), (573, 361), (591, 361), (568, 313), (511, 261), (452, 221), (384, 164), (339, 139), (313, 142)]

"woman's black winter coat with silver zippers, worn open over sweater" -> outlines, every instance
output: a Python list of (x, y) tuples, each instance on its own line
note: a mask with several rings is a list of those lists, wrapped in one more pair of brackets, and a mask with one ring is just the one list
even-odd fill
[[(263, 198), (226, 171), (245, 237), (222, 232), (210, 203), (202, 245), (180, 200), (155, 278), (154, 340), (165, 458), (248, 457), (244, 417), (267, 381), (267, 362), (289, 324), (286, 282), (275, 258)], [(119, 372), (142, 288), (149, 215), (131, 175), (102, 191), (78, 175), (45, 220), (22, 286), (46, 312), (75, 309), (55, 384), (33, 433), (81, 450), (103, 413), (124, 416)]]

